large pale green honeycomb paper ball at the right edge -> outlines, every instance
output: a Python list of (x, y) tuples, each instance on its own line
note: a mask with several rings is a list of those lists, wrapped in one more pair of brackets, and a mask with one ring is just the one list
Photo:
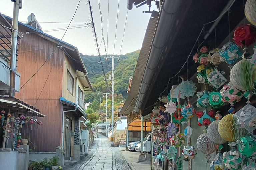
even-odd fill
[(256, 78), (256, 72), (250, 63), (250, 59), (243, 59), (236, 63), (229, 74), (230, 82), (242, 91), (253, 90), (253, 82)]

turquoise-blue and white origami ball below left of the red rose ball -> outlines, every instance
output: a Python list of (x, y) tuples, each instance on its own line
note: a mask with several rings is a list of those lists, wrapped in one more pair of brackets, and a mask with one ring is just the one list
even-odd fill
[(221, 55), (221, 59), (226, 61), (228, 64), (236, 62), (242, 56), (242, 52), (233, 42), (227, 42), (225, 45), (223, 45), (223, 47), (219, 50), (219, 53)]

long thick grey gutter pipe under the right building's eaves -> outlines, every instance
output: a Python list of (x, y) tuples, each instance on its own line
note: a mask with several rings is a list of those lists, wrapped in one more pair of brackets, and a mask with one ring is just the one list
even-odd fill
[(149, 82), (152, 79), (154, 69), (158, 64), (161, 53), (167, 43), (167, 39), (173, 24), (176, 24), (176, 15), (179, 13), (182, 0), (164, 0), (159, 13), (155, 34), (151, 43), (147, 64), (140, 84), (134, 112), (138, 113), (143, 103)]

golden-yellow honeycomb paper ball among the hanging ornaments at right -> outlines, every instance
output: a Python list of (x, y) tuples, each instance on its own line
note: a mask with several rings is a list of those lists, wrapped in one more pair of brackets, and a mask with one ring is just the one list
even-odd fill
[(220, 120), (218, 131), (220, 136), (229, 142), (237, 141), (248, 132), (246, 129), (239, 127), (234, 114), (228, 114)]

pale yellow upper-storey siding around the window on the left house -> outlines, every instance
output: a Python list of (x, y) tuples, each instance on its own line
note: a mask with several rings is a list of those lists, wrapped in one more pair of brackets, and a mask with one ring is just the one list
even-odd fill
[[(71, 59), (64, 55), (63, 60), (63, 79), (62, 79), (62, 97), (64, 97), (66, 100), (75, 103), (75, 95), (76, 95), (76, 69), (74, 64), (72, 63)], [(73, 95), (68, 91), (67, 89), (67, 73), (68, 71), (74, 78), (74, 84), (73, 84)]]

